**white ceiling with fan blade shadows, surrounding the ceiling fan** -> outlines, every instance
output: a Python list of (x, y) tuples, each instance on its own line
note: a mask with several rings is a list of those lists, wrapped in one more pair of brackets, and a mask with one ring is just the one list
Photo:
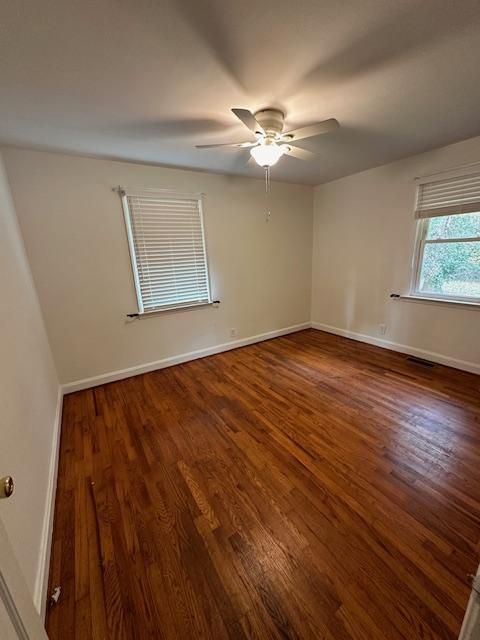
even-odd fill
[(318, 184), (480, 134), (478, 0), (3, 0), (0, 60), (7, 144), (261, 175), (193, 145), (274, 106), (339, 120), (273, 170)]

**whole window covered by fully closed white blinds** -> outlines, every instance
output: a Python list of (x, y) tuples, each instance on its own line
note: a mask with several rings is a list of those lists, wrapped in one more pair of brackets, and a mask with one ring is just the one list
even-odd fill
[(121, 195), (139, 312), (210, 303), (201, 196)]

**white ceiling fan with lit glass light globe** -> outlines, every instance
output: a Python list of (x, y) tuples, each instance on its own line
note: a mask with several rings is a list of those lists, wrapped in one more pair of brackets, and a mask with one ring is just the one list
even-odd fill
[(250, 148), (253, 160), (264, 169), (276, 164), (283, 155), (308, 160), (315, 154), (296, 146), (298, 140), (312, 138), (322, 133), (334, 131), (339, 127), (335, 118), (283, 132), (285, 115), (278, 109), (262, 109), (253, 114), (248, 109), (232, 109), (232, 112), (254, 134), (255, 140), (246, 142), (227, 142), (223, 144), (198, 144), (197, 149), (216, 147)]

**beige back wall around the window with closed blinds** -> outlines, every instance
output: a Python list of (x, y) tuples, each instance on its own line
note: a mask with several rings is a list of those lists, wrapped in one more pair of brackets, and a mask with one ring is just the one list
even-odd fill
[[(313, 189), (262, 180), (4, 150), (17, 215), (63, 383), (310, 320)], [(205, 193), (212, 294), (203, 307), (127, 322), (136, 310), (114, 185)]]

